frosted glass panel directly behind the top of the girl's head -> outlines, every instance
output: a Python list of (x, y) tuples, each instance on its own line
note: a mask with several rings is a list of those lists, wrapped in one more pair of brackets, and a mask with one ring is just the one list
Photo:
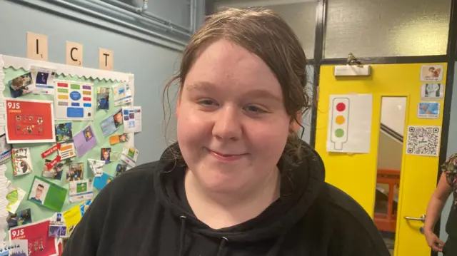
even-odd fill
[(263, 7), (271, 9), (279, 14), (289, 26), (295, 31), (300, 39), (306, 58), (312, 59), (314, 56), (314, 37), (316, 34), (316, 6), (317, 1), (304, 1), (294, 4), (271, 4), (273, 1), (216, 1), (216, 9), (221, 10), (226, 7), (249, 8)]

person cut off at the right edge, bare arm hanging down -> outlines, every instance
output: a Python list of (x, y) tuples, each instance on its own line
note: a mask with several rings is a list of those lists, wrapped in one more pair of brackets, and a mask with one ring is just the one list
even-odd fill
[[(424, 235), (432, 250), (443, 252), (445, 256), (453, 256), (457, 255), (457, 154), (451, 155), (441, 165), (441, 171), (443, 173), (438, 186), (428, 202)], [(433, 229), (451, 193), (454, 201), (446, 223), (446, 232), (449, 236), (445, 244), (433, 233)]]

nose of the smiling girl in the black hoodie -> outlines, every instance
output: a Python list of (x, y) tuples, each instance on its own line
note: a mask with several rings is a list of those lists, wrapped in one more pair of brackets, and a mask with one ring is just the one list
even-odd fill
[(238, 140), (242, 128), (240, 116), (235, 107), (221, 108), (215, 115), (213, 135), (220, 140)]

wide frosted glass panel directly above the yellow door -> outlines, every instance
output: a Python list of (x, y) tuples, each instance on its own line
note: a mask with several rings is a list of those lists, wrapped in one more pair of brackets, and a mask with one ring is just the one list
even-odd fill
[(325, 58), (446, 54), (451, 0), (328, 0)]

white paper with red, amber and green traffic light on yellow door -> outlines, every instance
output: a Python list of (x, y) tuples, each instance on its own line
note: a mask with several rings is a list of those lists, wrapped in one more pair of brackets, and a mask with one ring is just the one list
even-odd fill
[(331, 95), (329, 102), (327, 151), (369, 153), (373, 95)]

